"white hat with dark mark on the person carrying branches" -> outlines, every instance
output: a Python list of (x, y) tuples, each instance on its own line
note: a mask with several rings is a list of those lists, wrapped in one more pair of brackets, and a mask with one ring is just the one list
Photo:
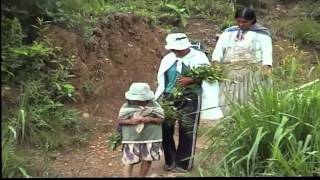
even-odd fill
[(189, 39), (184, 33), (171, 33), (166, 37), (166, 46), (164, 47), (167, 50), (184, 50), (188, 49), (191, 46)]

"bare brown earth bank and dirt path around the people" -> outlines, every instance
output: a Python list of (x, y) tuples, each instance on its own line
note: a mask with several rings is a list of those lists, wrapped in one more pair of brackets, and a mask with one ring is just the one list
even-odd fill
[[(214, 47), (217, 30), (205, 19), (190, 19), (186, 27), (190, 39), (200, 41), (209, 51)], [(89, 116), (87, 120), (94, 131), (88, 145), (55, 155), (50, 170), (57, 177), (122, 176), (120, 148), (112, 151), (106, 140), (114, 131), (125, 91), (137, 81), (147, 82), (155, 90), (160, 60), (167, 53), (163, 48), (165, 31), (131, 14), (110, 16), (95, 29), (94, 35), (94, 41), (86, 43), (76, 33), (59, 27), (51, 27), (48, 33), (64, 53), (76, 57), (72, 83), (79, 96), (71, 106)], [(196, 151), (203, 147), (204, 142), (199, 138)], [(152, 164), (148, 176), (180, 176), (164, 171), (163, 164), (162, 155), (161, 161)], [(138, 176), (138, 167), (134, 169), (134, 176)], [(196, 168), (192, 174), (196, 174)]]

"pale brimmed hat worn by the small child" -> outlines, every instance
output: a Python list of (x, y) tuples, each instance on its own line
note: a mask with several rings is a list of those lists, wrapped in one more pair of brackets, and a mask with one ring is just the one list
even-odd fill
[(150, 101), (154, 99), (154, 93), (147, 83), (132, 83), (125, 94), (127, 100)]

